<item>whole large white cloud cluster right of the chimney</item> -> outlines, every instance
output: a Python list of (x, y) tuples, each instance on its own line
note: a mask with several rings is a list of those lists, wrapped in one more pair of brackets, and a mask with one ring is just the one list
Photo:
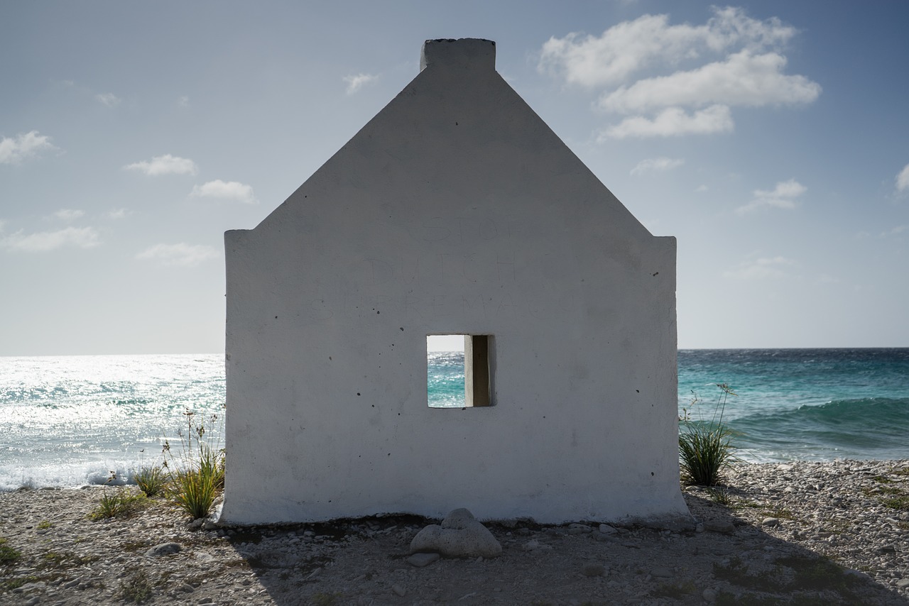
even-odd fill
[(704, 25), (670, 25), (669, 15), (644, 15), (600, 36), (552, 37), (537, 69), (599, 89), (599, 109), (630, 116), (607, 128), (600, 142), (730, 133), (733, 107), (810, 104), (821, 94), (821, 85), (804, 75), (784, 74), (784, 45), (794, 27), (775, 17), (753, 19), (741, 8), (713, 12)]

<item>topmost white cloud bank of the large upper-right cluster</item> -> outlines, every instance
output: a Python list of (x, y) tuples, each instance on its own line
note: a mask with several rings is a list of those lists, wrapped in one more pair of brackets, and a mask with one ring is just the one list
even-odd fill
[(599, 37), (577, 33), (551, 37), (537, 68), (569, 84), (620, 84), (645, 68), (678, 65), (704, 53), (742, 47), (759, 51), (782, 45), (795, 29), (779, 19), (758, 21), (741, 8), (716, 8), (704, 25), (669, 25), (669, 15), (643, 15), (610, 27)]

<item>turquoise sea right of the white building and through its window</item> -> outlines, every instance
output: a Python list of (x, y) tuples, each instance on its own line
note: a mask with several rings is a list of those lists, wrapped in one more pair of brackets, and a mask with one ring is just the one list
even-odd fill
[[(694, 420), (714, 417), (717, 383), (733, 390), (744, 461), (909, 458), (909, 349), (682, 350), (678, 378)], [(427, 379), (432, 405), (463, 405), (463, 354), (430, 354)]]

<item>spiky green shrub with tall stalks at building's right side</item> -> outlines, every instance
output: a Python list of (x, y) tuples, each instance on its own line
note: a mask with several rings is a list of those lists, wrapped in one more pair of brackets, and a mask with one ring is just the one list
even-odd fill
[[(679, 419), (679, 464), (682, 481), (688, 484), (714, 486), (720, 482), (723, 470), (735, 460), (733, 433), (724, 425), (726, 400), (737, 395), (726, 383), (716, 383), (721, 394), (709, 422), (691, 419), (688, 409)], [(695, 394), (692, 409), (700, 402)]]

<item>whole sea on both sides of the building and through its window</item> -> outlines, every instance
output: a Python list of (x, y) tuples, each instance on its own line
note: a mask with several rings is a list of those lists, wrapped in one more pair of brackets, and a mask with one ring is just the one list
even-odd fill
[[(678, 377), (679, 415), (722, 420), (744, 462), (909, 459), (909, 349), (681, 350)], [(428, 353), (426, 380), (462, 406), (464, 353)], [(0, 357), (0, 491), (130, 482), (224, 420), (222, 354)]]

